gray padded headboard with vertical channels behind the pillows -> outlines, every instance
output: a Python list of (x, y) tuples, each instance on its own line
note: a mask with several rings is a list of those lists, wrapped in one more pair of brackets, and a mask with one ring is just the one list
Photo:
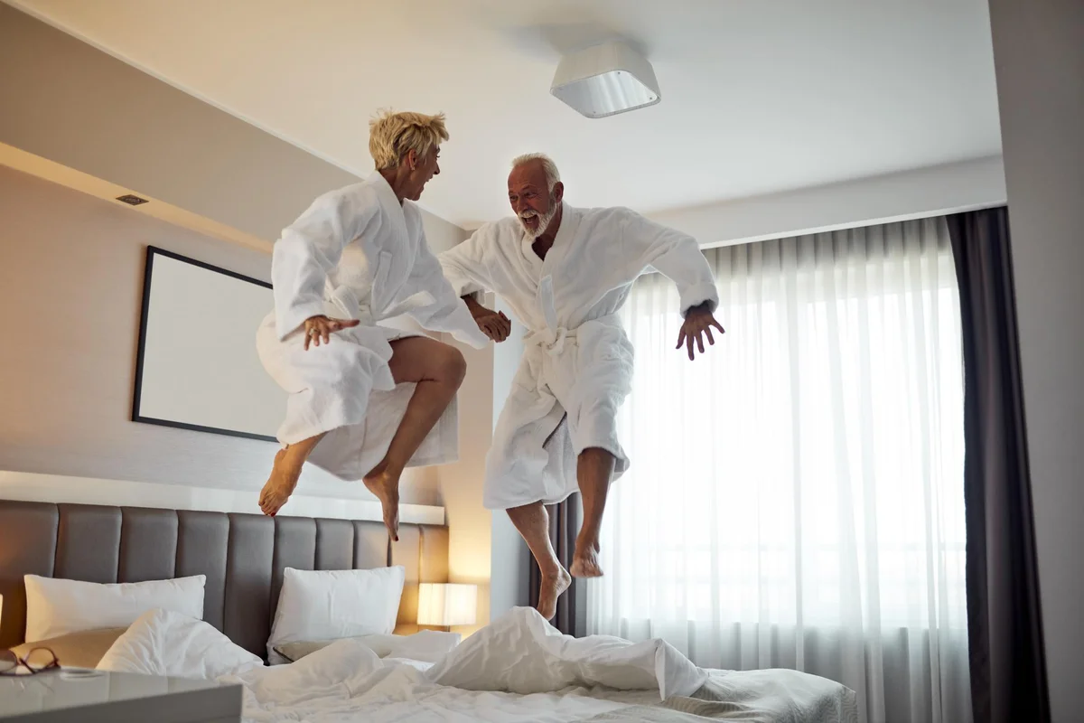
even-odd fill
[(204, 619), (267, 654), (283, 569), (406, 569), (399, 630), (412, 629), (420, 582), (448, 580), (448, 529), (380, 522), (0, 500), (0, 649), (23, 642), (24, 574), (141, 582), (206, 574)]

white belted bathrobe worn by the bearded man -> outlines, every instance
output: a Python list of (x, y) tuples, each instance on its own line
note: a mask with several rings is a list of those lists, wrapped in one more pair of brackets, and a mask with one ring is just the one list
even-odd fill
[(628, 469), (616, 419), (632, 388), (633, 350), (617, 312), (637, 276), (654, 269), (675, 282), (682, 314), (719, 304), (693, 237), (627, 208), (565, 204), (562, 214), (544, 261), (515, 217), (439, 257), (457, 295), (494, 292), (528, 330), (487, 459), (490, 509), (565, 500), (578, 489), (576, 457), (591, 447), (616, 457), (614, 479)]

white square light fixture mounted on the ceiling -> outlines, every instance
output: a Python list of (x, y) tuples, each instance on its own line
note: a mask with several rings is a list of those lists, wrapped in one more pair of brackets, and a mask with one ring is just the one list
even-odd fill
[(564, 56), (550, 92), (588, 118), (628, 113), (662, 100), (651, 64), (619, 41)]

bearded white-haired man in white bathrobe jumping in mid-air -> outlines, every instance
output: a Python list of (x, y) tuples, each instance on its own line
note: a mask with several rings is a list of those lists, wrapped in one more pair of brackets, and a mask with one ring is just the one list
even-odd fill
[(515, 217), (481, 227), (440, 256), (444, 275), (478, 326), (503, 341), (511, 323), (475, 295), (493, 292), (528, 330), (512, 392), (487, 460), (483, 501), (505, 509), (542, 572), (538, 609), (547, 620), (571, 584), (550, 543), (543, 505), (577, 489), (583, 525), (569, 570), (594, 578), (609, 483), (629, 467), (616, 418), (631, 390), (632, 345), (617, 315), (638, 275), (674, 281), (685, 321), (678, 339), (704, 352), (719, 304), (714, 277), (694, 238), (627, 208), (582, 209), (564, 202), (556, 165), (543, 154), (516, 158), (508, 175)]

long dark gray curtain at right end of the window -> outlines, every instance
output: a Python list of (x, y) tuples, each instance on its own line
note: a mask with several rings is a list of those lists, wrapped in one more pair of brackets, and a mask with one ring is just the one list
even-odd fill
[(1004, 207), (949, 217), (964, 336), (971, 700), (984, 723), (1050, 720)]

